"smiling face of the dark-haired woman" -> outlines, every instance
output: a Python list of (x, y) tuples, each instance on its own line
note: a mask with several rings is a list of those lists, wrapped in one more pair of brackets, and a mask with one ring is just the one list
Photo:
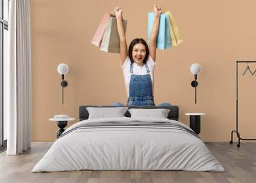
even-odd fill
[(132, 59), (138, 65), (143, 65), (143, 60), (146, 56), (146, 47), (143, 44), (136, 44), (132, 49)]

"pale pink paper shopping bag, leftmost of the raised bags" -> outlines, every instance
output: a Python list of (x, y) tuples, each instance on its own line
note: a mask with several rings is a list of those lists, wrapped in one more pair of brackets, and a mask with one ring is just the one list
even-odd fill
[(106, 13), (103, 17), (103, 19), (101, 20), (99, 27), (97, 29), (97, 31), (95, 32), (95, 35), (92, 38), (92, 44), (96, 45), (97, 47), (100, 47), (101, 41), (102, 41), (102, 37), (104, 35), (104, 30), (106, 28), (106, 24), (108, 22), (108, 19), (110, 17), (110, 13)]

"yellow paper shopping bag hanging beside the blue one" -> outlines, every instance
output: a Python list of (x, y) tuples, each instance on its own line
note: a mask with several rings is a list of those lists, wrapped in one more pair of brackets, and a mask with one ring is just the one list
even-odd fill
[(177, 46), (179, 45), (183, 40), (180, 35), (179, 28), (173, 19), (173, 15), (170, 11), (164, 12), (166, 15), (169, 17), (169, 24), (170, 24), (170, 33), (171, 33), (171, 40), (172, 40), (172, 46)]

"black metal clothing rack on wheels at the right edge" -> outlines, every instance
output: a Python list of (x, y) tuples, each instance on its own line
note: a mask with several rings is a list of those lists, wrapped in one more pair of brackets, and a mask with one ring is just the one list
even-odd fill
[(237, 147), (240, 147), (240, 140), (256, 140), (256, 139), (241, 138), (240, 133), (238, 131), (238, 64), (239, 63), (256, 63), (256, 61), (236, 61), (236, 131), (231, 131), (231, 140), (229, 142), (231, 144), (233, 143), (233, 133), (235, 132), (238, 138), (238, 144), (236, 145)]

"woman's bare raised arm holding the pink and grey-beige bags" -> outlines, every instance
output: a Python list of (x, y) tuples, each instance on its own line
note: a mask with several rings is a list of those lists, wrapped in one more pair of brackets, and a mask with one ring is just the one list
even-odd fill
[(115, 8), (115, 15), (117, 20), (117, 31), (120, 39), (121, 63), (123, 65), (125, 59), (127, 58), (128, 51), (127, 51), (127, 42), (125, 37), (124, 25), (123, 25), (122, 9), (120, 7)]

